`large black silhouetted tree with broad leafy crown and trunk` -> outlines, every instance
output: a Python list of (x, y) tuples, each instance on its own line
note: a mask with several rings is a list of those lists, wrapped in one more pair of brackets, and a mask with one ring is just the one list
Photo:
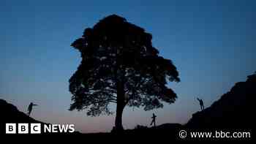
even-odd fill
[(124, 107), (144, 110), (173, 103), (176, 94), (167, 88), (167, 80), (179, 81), (172, 61), (159, 56), (151, 45), (151, 34), (110, 15), (72, 43), (82, 60), (69, 79), (72, 105), (69, 110), (86, 109), (87, 115), (112, 114), (108, 105), (116, 103), (116, 130), (123, 129)]

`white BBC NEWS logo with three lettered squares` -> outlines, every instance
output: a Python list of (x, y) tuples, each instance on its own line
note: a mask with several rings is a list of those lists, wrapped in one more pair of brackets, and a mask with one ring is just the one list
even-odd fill
[(5, 124), (6, 134), (41, 134), (41, 133), (72, 133), (75, 132), (74, 124)]

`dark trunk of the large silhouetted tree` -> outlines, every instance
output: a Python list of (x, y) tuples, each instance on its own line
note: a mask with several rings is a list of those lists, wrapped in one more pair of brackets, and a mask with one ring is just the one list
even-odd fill
[(122, 115), (123, 115), (124, 107), (125, 107), (124, 83), (118, 83), (117, 104), (116, 104), (116, 121), (115, 121), (116, 132), (121, 132), (124, 130), (123, 125), (122, 125)]

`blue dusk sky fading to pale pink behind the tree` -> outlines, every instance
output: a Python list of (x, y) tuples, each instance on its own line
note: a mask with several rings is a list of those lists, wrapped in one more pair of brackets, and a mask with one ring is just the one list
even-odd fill
[(39, 121), (110, 132), (115, 115), (68, 110), (68, 80), (81, 60), (70, 44), (84, 29), (116, 14), (151, 33), (154, 47), (173, 61), (181, 78), (168, 84), (178, 95), (174, 104), (151, 111), (126, 107), (124, 128), (149, 126), (152, 113), (157, 124), (186, 124), (200, 110), (196, 97), (209, 107), (256, 71), (255, 6), (253, 0), (1, 0), (0, 99), (23, 112), (37, 103), (31, 116)]

